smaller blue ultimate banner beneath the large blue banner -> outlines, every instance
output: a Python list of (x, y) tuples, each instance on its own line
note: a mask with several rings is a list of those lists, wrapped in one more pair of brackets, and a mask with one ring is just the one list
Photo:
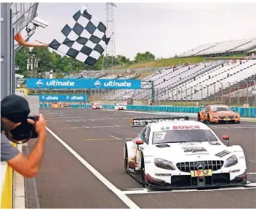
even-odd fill
[(39, 95), (39, 102), (87, 102), (87, 95), (85, 94)]

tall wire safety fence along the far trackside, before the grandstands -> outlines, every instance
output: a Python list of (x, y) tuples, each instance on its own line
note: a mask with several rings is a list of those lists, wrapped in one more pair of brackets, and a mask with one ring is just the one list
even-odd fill
[[(87, 94), (88, 101), (124, 101), (132, 98), (142, 105), (153, 101), (154, 105), (197, 106), (228, 105), (233, 107), (256, 106), (255, 76), (241, 82), (217, 82), (209, 85), (184, 83), (171, 89), (151, 89), (143, 83), (142, 89), (30, 89), (30, 94)], [(191, 86), (190, 86), (191, 84)]]

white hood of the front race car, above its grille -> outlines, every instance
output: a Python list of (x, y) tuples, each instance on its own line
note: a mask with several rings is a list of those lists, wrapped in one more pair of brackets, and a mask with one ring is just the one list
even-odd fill
[[(159, 157), (174, 163), (198, 160), (223, 160), (222, 157), (225, 152), (224, 154), (222, 152), (227, 149), (220, 142), (169, 143), (156, 144), (154, 146), (154, 158)], [(228, 152), (229, 154), (231, 152)]]

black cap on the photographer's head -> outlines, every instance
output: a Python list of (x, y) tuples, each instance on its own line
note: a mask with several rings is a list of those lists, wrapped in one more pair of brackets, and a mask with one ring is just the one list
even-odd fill
[(1, 100), (1, 117), (7, 118), (14, 123), (20, 123), (28, 119), (28, 101), (16, 94), (4, 97)]

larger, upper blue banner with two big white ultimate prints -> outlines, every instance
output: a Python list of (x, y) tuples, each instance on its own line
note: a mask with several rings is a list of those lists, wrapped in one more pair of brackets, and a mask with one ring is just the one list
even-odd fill
[(27, 78), (28, 89), (141, 89), (140, 80)]

